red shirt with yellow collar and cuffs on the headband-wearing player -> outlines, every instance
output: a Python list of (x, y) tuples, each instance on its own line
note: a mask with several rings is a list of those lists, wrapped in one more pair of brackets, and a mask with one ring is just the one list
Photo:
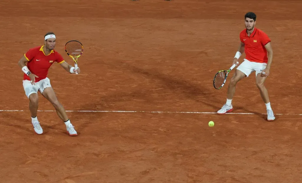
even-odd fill
[[(45, 55), (43, 51), (43, 46), (34, 47), (28, 50), (24, 56), (27, 59), (27, 68), (33, 74), (37, 75), (35, 82), (38, 82), (42, 79), (45, 79), (48, 74), (48, 69), (53, 64), (53, 62), (57, 62), (59, 64), (65, 62), (62, 55), (55, 50), (51, 50), (48, 55)], [(24, 80), (31, 80), (25, 73), (24, 73)]]

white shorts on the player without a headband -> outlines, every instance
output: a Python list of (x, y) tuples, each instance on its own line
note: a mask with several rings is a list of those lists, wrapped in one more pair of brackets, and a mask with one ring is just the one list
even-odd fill
[(246, 77), (249, 77), (249, 75), (252, 73), (252, 72), (256, 72), (256, 76), (257, 74), (261, 73), (262, 70), (264, 70), (266, 68), (266, 63), (258, 63), (258, 62), (251, 62), (247, 59), (243, 59), (243, 63), (241, 63), (237, 69), (241, 72), (243, 72)]

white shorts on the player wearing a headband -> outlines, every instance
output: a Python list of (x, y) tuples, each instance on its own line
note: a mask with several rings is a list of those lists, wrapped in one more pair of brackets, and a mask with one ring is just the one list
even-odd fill
[(35, 82), (34, 85), (31, 85), (31, 81), (29, 80), (23, 80), (23, 88), (27, 98), (29, 98), (29, 95), (32, 93), (38, 93), (38, 90), (40, 93), (43, 93), (44, 89), (48, 87), (51, 87), (50, 80), (48, 78), (41, 79), (40, 81)]

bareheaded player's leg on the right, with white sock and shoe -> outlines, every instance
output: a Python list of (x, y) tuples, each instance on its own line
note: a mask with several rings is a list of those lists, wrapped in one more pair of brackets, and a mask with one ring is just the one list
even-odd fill
[[(259, 65), (259, 63), (256, 63), (256, 64)], [(261, 70), (263, 70), (264, 68), (262, 68)], [(260, 91), (261, 98), (264, 101), (265, 106), (266, 106), (267, 120), (268, 121), (273, 121), (273, 120), (275, 120), (274, 112), (271, 109), (271, 103), (269, 101), (268, 91), (264, 86), (264, 82), (265, 82), (267, 77), (262, 77), (261, 76), (261, 70), (260, 69), (256, 70), (256, 85), (257, 85), (257, 87)]]

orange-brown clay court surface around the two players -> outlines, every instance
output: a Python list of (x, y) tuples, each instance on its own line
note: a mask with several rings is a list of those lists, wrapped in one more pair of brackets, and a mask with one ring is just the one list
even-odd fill
[[(12, 0), (0, 7), (0, 182), (302, 180), (301, 1)], [(205, 114), (226, 101), (229, 82), (216, 90), (213, 77), (231, 66), (248, 11), (272, 40), (266, 86), (278, 114), (274, 122), (265, 120), (255, 73), (238, 83), (232, 114)], [(68, 63), (64, 44), (76, 39), (84, 45), (79, 75), (57, 63), (48, 74), (72, 111), (76, 137), (47, 111), (54, 108), (41, 94), (44, 134), (31, 125), (17, 63), (48, 31)]]

